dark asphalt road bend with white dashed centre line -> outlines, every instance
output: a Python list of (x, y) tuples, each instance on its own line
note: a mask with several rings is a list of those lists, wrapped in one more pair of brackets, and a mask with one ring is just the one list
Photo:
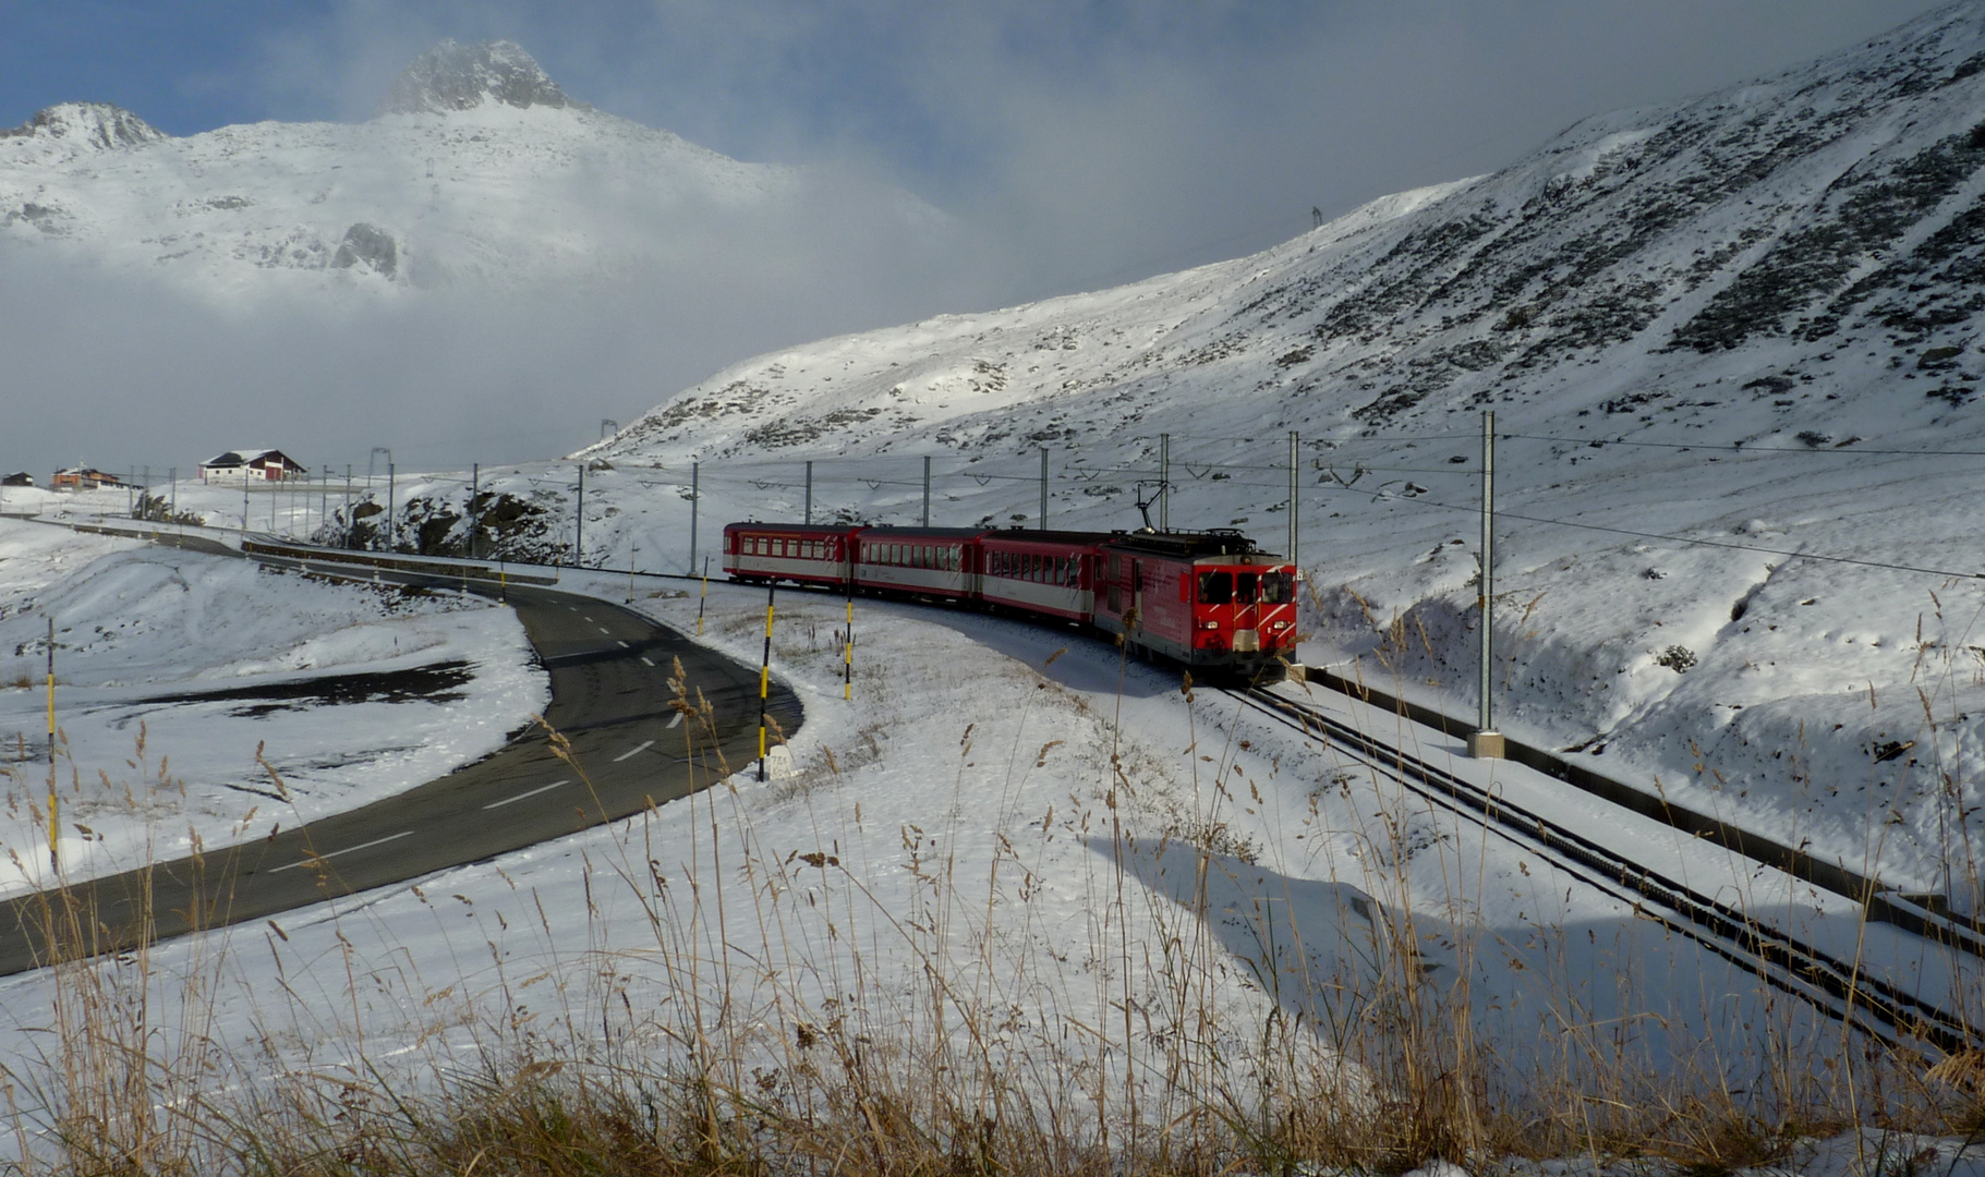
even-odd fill
[[(0, 903), (0, 975), (52, 963), (52, 925), (66, 929), (62, 955), (95, 955), (141, 943), (147, 913), (155, 939), (268, 919), (627, 818), (756, 760), (756, 667), (596, 597), (512, 586), (508, 601), (550, 671), (546, 722), (570, 742), (572, 762), (536, 728), (357, 810), (66, 893), (14, 897)], [(677, 659), (713, 724), (671, 707)], [(776, 683), (768, 711), (786, 732), (798, 728), (800, 701)]]

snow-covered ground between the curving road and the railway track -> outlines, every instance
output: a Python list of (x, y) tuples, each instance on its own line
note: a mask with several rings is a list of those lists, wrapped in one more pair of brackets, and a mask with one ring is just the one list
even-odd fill
[[(564, 586), (627, 591), (611, 574)], [(758, 653), (762, 589), (713, 584), (703, 601), (641, 586), (635, 605), (689, 631), (703, 605), (707, 641)], [(1775, 1050), (1840, 1048), (1838, 1030), (1630, 901), (1106, 643), (861, 601), (844, 701), (842, 623), (840, 599), (780, 595), (774, 673), (808, 713), (798, 776), (742, 772), (278, 929), (175, 941), (153, 953), (153, 984), (202, 979), (198, 1032), (260, 1076), (230, 1082), (258, 1084), (357, 1076), (361, 1054), (415, 1076), (488, 1050), (597, 1058), (613, 1042), (655, 1062), (693, 1030), (736, 1050), (725, 1066), (742, 1074), (790, 1062), (794, 1026), (935, 1034), (971, 1054), (953, 1036), (996, 1024), (989, 1066), (1040, 1108), (1094, 1110), (1098, 1076), (1131, 1076), (1147, 1110), (1189, 1094), (1257, 1108), (1292, 1076), (1233, 1060), (1258, 1058), (1268, 1034), (1290, 1066), (1328, 1068), (1308, 1026), (1374, 1016), (1405, 945), (1425, 996), (1463, 1004), (1519, 1070), (1576, 1070), (1596, 1050), (1632, 1072), (1737, 1074)], [(1517, 768), (1336, 707), (1521, 784)], [(1846, 921), (1854, 941), (1852, 913), (1824, 895), (1731, 885), (1806, 933)], [(50, 986), (0, 982), (0, 1056), (36, 1058)], [(693, 1012), (691, 994), (728, 1000)]]

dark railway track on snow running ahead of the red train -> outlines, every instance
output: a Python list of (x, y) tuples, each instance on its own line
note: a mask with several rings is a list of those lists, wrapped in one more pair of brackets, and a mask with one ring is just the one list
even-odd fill
[(1638, 915), (1661, 923), (1703, 949), (1755, 971), (1771, 986), (1804, 1000), (1826, 1016), (1884, 1042), (1916, 1040), (1943, 1054), (1985, 1048), (1985, 1028), (1925, 1002), (1854, 963), (1800, 941), (1749, 913), (1650, 869), (1590, 838), (1511, 804), (1445, 768), (1386, 744), (1320, 707), (1260, 687), (1227, 695), (1302, 734), (1326, 740), (1380, 768), (1407, 790), (1461, 812), (1501, 838), (1552, 861), (1558, 869), (1632, 903)]

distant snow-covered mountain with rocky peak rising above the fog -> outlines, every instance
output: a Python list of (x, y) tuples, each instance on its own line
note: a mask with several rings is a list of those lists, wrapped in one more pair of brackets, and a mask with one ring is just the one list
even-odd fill
[[(175, 139), (69, 103), (0, 131), (0, 254), (60, 250), (242, 302), (707, 266), (711, 242), (804, 216), (808, 177), (748, 165), (570, 99), (508, 42), (443, 42), (365, 123)], [(933, 212), (879, 206), (905, 230)]]

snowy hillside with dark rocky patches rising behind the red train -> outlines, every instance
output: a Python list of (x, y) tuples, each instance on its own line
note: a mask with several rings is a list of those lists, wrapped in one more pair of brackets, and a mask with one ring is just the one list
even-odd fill
[(885, 455), (933, 453), (939, 522), (971, 522), (1032, 492), (965, 474), (1050, 447), (1056, 522), (1129, 526), (1169, 433), (1171, 524), (1278, 546), (1296, 431), (1310, 657), (1382, 655), (1465, 713), (1495, 409), (1505, 726), (1943, 889), (1945, 859), (1975, 875), (1957, 826), (1985, 802), (1981, 196), (1963, 0), (1253, 258), (762, 355), (586, 457), (701, 457), (760, 516), (814, 458), (824, 508), (877, 518), (915, 478)]

